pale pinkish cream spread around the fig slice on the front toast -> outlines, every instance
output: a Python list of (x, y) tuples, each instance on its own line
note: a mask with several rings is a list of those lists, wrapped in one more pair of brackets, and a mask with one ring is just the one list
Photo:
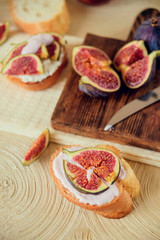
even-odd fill
[[(76, 151), (79, 149), (82, 149), (82, 148), (80, 148), (80, 147), (68, 148), (68, 150), (70, 150), (70, 151)], [(103, 205), (105, 203), (112, 201), (114, 199), (114, 197), (119, 195), (119, 190), (116, 186), (116, 182), (114, 182), (112, 185), (106, 183), (109, 186), (109, 188), (106, 191), (99, 193), (97, 195), (84, 194), (84, 193), (79, 192), (67, 180), (64, 169), (63, 169), (63, 160), (67, 160), (70, 162), (72, 161), (71, 159), (68, 158), (68, 156), (65, 153), (61, 152), (53, 161), (52, 168), (53, 168), (54, 174), (55, 174), (56, 178), (58, 178), (61, 181), (63, 186), (65, 188), (67, 188), (71, 193), (73, 193), (75, 195), (75, 197), (81, 203), (84, 203), (84, 204), (89, 203), (90, 205), (100, 206), (100, 205)], [(91, 170), (91, 172), (92, 172), (92, 170)], [(91, 172), (87, 173), (88, 178), (90, 178)], [(123, 179), (124, 177), (125, 177), (125, 170), (123, 169), (123, 166), (121, 166), (119, 178)]]

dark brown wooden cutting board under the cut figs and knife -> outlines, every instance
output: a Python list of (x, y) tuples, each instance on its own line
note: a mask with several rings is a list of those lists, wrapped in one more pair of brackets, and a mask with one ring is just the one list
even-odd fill
[[(156, 9), (140, 13), (129, 34), (131, 41), (136, 28), (146, 19), (159, 15)], [(105, 51), (111, 59), (126, 42), (87, 34), (84, 44)], [(72, 69), (51, 117), (51, 126), (59, 131), (115, 143), (160, 151), (160, 102), (157, 102), (104, 131), (110, 118), (126, 103), (142, 96), (160, 85), (160, 67), (156, 76), (146, 86), (130, 90), (122, 83), (121, 89), (109, 98), (92, 98), (78, 89), (79, 76)]]

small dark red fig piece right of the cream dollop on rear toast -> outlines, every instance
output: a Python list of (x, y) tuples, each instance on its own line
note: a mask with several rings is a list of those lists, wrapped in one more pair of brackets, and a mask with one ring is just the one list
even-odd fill
[(49, 53), (49, 58), (56, 61), (59, 58), (61, 47), (57, 41), (54, 41), (50, 45), (46, 46)]

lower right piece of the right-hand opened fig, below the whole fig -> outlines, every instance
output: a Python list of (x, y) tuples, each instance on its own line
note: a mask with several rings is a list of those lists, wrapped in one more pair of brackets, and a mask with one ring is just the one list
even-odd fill
[[(142, 87), (146, 84), (148, 84), (155, 76), (156, 73), (156, 57), (160, 56), (160, 51), (153, 51), (152, 53), (150, 53), (147, 57), (145, 57), (144, 59), (141, 59), (135, 63), (133, 63), (131, 66), (128, 67), (124, 67), (122, 69), (122, 78), (124, 83), (126, 84), (126, 86), (128, 88), (131, 89), (137, 89), (139, 87)], [(148, 65), (143, 67), (143, 62), (146, 60), (148, 60)], [(147, 72), (144, 76), (144, 78), (141, 78), (141, 69), (138, 71), (138, 69), (136, 69), (136, 65), (138, 67), (138, 65), (141, 65), (141, 69), (147, 67)], [(131, 83), (129, 82), (129, 78), (127, 75), (129, 74), (129, 72), (132, 71), (132, 69), (135, 69), (133, 71), (132, 74), (130, 74), (131, 78), (133, 77), (133, 79), (131, 80)], [(135, 73), (135, 74), (134, 74)], [(136, 75), (137, 74), (137, 75)], [(142, 76), (143, 77), (143, 76)], [(134, 79), (135, 79), (135, 84), (134, 84)], [(137, 83), (137, 79), (140, 79), (139, 83)]]

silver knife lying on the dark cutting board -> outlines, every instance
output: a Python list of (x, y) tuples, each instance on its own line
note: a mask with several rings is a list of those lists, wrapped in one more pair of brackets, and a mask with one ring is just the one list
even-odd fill
[(113, 115), (104, 130), (111, 130), (115, 124), (159, 100), (160, 86), (123, 106)]

